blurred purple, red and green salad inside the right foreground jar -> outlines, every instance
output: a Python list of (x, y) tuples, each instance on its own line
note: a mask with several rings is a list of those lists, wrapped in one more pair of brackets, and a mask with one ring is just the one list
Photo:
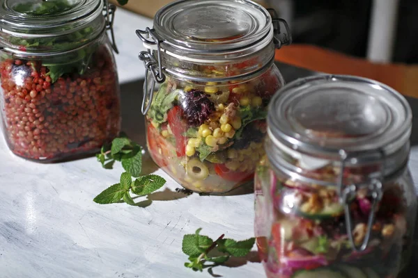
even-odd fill
[[(298, 165), (297, 161), (294, 161)], [(346, 167), (347, 184), (361, 183), (376, 167)], [(306, 171), (307, 177), (335, 181), (340, 167)], [(383, 184), (375, 219), (368, 230), (373, 198), (359, 188), (348, 204), (351, 231), (334, 186), (302, 183), (277, 174), (265, 158), (256, 171), (258, 252), (270, 278), (394, 278), (410, 255), (415, 226), (414, 193), (402, 177)], [(411, 205), (412, 204), (412, 205)], [(370, 232), (366, 249), (355, 251)]]

